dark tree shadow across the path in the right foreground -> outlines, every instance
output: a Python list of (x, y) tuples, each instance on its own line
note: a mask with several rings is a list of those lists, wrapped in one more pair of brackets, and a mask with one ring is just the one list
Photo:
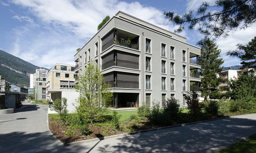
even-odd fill
[[(94, 152), (215, 152), (242, 137), (256, 133), (256, 120), (227, 118), (116, 138), (101, 142)], [(116, 141), (113, 140), (113, 141)], [(111, 141), (111, 140), (108, 140)], [(103, 145), (103, 147), (102, 147)]]

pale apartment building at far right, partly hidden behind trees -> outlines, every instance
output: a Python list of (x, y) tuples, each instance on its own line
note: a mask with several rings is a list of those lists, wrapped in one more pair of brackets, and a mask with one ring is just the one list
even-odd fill
[(250, 69), (241, 69), (241, 65), (235, 65), (230, 67), (224, 67), (222, 71), (218, 74), (219, 77), (222, 77), (222, 83), (219, 85), (219, 88), (221, 89), (221, 94), (227, 93), (228, 89), (228, 81), (235, 80), (239, 76), (241, 76), (245, 72), (249, 72)]

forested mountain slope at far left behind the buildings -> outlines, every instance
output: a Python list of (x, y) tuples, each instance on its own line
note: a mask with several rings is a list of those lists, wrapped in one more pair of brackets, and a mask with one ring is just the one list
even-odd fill
[(29, 75), (40, 67), (0, 50), (0, 75), (10, 83), (29, 87)]

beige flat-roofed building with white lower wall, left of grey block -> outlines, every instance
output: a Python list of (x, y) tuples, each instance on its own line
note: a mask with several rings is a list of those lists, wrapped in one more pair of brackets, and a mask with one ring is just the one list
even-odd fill
[(51, 102), (54, 102), (57, 98), (67, 98), (67, 109), (69, 112), (73, 112), (74, 107), (72, 107), (72, 103), (75, 102), (79, 95), (75, 89), (75, 79), (74, 65), (55, 64), (46, 76), (47, 98)]

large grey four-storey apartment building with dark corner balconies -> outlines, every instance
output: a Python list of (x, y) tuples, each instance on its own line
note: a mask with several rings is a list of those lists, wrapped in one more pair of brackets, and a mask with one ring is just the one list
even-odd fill
[(186, 38), (119, 11), (74, 55), (74, 72), (80, 76), (91, 60), (101, 65), (114, 108), (163, 106), (170, 97), (186, 106), (188, 91), (200, 94), (200, 53)]

